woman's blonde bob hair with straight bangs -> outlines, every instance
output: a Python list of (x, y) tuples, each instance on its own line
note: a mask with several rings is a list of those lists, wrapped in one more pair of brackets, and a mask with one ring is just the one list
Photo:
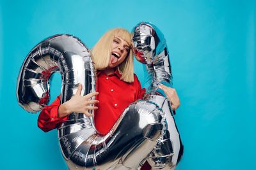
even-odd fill
[[(104, 70), (108, 67), (110, 56), (111, 56), (111, 46), (115, 37), (124, 39), (131, 47), (131, 34), (129, 31), (116, 28), (111, 29), (106, 32), (92, 48), (92, 60), (95, 64), (95, 69)], [(121, 80), (125, 82), (133, 82), (133, 58), (131, 48), (127, 53), (127, 57), (124, 62), (117, 66), (117, 69), (121, 76)]]

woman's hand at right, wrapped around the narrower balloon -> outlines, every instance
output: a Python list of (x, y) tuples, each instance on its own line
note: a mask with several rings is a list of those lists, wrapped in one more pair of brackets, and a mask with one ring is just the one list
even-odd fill
[(164, 94), (171, 102), (172, 110), (175, 111), (180, 106), (180, 99), (175, 89), (171, 87), (167, 87), (165, 85), (158, 85), (159, 89), (162, 89), (164, 91)]

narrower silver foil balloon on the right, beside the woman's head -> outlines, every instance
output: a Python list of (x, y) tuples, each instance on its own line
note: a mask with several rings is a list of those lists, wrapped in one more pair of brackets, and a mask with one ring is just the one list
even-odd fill
[(148, 95), (145, 100), (156, 103), (166, 115), (164, 135), (159, 138), (148, 162), (153, 169), (174, 169), (182, 156), (183, 145), (170, 102), (164, 97), (164, 92), (157, 89), (159, 83), (172, 87), (166, 40), (156, 25), (141, 22), (132, 29), (132, 50), (136, 59), (145, 64), (145, 74), (148, 78)]

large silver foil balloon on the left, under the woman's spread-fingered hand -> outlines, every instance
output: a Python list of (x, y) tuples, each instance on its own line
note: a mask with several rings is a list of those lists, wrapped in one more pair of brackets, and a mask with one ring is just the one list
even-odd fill
[[(88, 48), (76, 37), (52, 36), (36, 45), (24, 60), (17, 81), (17, 98), (27, 111), (42, 110), (49, 102), (49, 78), (59, 71), (61, 103), (83, 85), (81, 95), (95, 91), (95, 70)], [(106, 110), (108, 111), (108, 110)], [(151, 101), (130, 104), (105, 136), (93, 119), (71, 113), (58, 129), (62, 155), (69, 169), (138, 169), (164, 134), (165, 115)]]

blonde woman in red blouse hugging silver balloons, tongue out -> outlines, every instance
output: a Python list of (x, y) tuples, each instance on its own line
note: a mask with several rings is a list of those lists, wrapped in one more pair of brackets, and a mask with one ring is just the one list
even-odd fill
[[(122, 111), (145, 94), (140, 81), (133, 73), (131, 34), (125, 29), (106, 32), (92, 50), (92, 59), (97, 69), (97, 92), (81, 96), (83, 87), (69, 101), (60, 104), (60, 96), (49, 106), (45, 106), (38, 117), (38, 127), (43, 131), (57, 128), (72, 112), (92, 116), (88, 110), (95, 111), (95, 127), (98, 132), (107, 134), (120, 117)], [(159, 85), (172, 101), (172, 109), (179, 105), (175, 89)], [(96, 96), (95, 100), (90, 100)], [(95, 104), (95, 106), (92, 106)]]

